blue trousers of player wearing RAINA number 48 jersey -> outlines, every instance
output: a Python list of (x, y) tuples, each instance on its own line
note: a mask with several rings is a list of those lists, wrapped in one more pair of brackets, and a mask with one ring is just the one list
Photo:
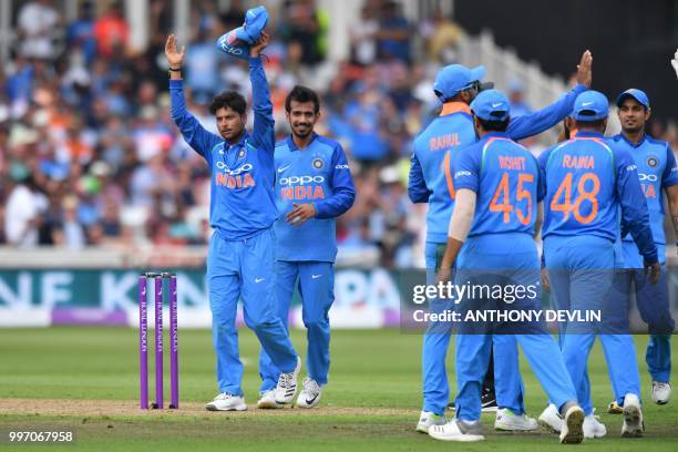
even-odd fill
[(622, 394), (622, 402), (627, 393), (640, 397), (634, 341), (628, 332), (616, 327), (628, 308), (617, 305), (620, 298), (614, 289), (614, 244), (590, 235), (548, 236), (544, 239), (544, 253), (557, 309), (602, 311), (599, 325), (559, 325), (563, 358), (586, 415), (593, 412), (587, 362), (596, 336), (603, 346), (615, 394)]

